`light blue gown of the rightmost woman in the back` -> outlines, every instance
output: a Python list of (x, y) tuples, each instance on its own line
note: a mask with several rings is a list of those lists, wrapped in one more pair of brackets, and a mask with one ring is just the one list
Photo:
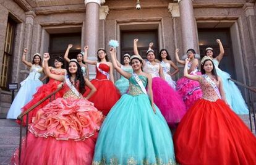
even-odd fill
[(230, 78), (230, 75), (222, 71), (218, 67), (219, 62), (217, 59), (213, 59), (213, 64), (215, 65), (218, 76), (220, 76), (223, 81), (223, 88), (226, 94), (226, 100), (228, 101), (231, 109), (233, 109), (236, 114), (249, 114), (247, 104), (245, 103), (244, 98), (242, 98), (241, 91), (237, 88), (234, 82), (228, 80), (228, 78)]

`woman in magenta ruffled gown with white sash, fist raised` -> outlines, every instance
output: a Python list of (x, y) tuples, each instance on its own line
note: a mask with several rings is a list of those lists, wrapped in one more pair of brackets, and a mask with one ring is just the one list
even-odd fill
[[(176, 61), (179, 64), (185, 65), (185, 61), (179, 59), (178, 55), (179, 49), (176, 49), (175, 57)], [(195, 50), (188, 49), (187, 57), (190, 59), (187, 71), (190, 75), (200, 75), (201, 73), (198, 70), (198, 59), (195, 58)], [(202, 98), (203, 92), (200, 88), (200, 84), (195, 80), (190, 80), (189, 78), (182, 77), (177, 80), (176, 89), (179, 92), (179, 95), (182, 96), (186, 108), (189, 109), (195, 101)]]

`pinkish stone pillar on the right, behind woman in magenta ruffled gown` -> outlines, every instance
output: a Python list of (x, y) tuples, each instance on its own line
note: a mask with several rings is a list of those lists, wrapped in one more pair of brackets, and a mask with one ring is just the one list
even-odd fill
[(193, 0), (179, 0), (178, 3), (179, 12), (181, 14), (183, 53), (186, 53), (187, 49), (190, 48), (195, 49), (195, 51), (198, 53)]

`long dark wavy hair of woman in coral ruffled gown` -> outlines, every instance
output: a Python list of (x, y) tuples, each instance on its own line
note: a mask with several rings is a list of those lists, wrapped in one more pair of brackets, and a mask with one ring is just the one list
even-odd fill
[[(75, 64), (77, 65), (77, 72), (75, 73), (75, 85), (77, 83), (77, 80), (79, 81), (79, 92), (83, 95), (83, 93), (85, 93), (85, 78), (83, 77), (83, 73), (82, 73), (82, 69), (79, 65), (78, 62), (76, 61), (69, 61), (70, 62), (75, 62)], [(69, 78), (71, 77), (71, 74), (69, 72), (69, 64), (67, 65), (67, 75), (69, 75)]]

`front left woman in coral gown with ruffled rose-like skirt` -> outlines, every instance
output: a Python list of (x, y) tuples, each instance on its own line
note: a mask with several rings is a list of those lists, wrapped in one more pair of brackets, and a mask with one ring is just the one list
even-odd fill
[[(27, 139), (22, 142), (20, 164), (92, 164), (103, 114), (82, 93), (87, 85), (91, 89), (87, 96), (90, 98), (96, 89), (83, 77), (76, 60), (69, 62), (64, 76), (51, 74), (47, 64), (49, 54), (44, 57), (46, 75), (64, 82), (66, 93), (37, 112), (29, 125)], [(16, 150), (11, 163), (18, 164), (18, 160), (19, 150)]]

